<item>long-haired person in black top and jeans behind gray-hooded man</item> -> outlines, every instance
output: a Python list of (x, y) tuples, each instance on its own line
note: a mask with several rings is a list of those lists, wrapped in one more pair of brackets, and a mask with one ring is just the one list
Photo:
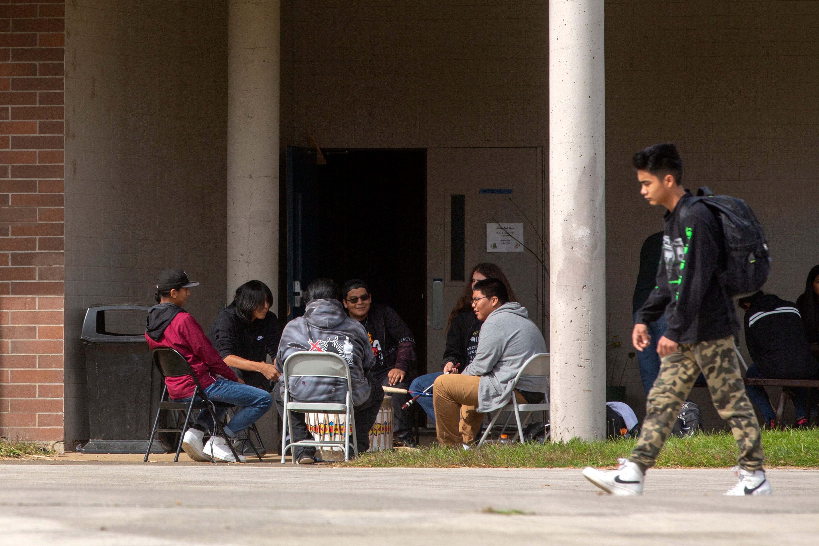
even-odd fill
[[(504, 272), (495, 264), (477, 264), (472, 269), (469, 276), (470, 282), (464, 287), (463, 293), (458, 298), (455, 307), (450, 313), (449, 323), (446, 325), (446, 348), (444, 349), (444, 359), (441, 363), (442, 372), (428, 373), (416, 377), (409, 385), (409, 390), (413, 392), (423, 392), (432, 386), (432, 383), (443, 373), (458, 373), (472, 363), (477, 351), (477, 341), (481, 336), (482, 321), (477, 319), (472, 307), (472, 287), (475, 283), (486, 278), (497, 278), (504, 283), (509, 294), (509, 301), (517, 301), (509, 281), (506, 280)], [(420, 396), (419, 405), (427, 415), (435, 422), (435, 409), (432, 408), (432, 397)]]

